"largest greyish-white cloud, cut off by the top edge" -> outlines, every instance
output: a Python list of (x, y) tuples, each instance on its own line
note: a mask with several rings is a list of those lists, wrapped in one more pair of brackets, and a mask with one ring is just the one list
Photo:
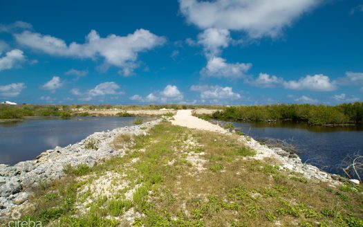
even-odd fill
[(250, 37), (276, 37), (319, 0), (179, 0), (180, 12), (198, 28), (243, 30)]

